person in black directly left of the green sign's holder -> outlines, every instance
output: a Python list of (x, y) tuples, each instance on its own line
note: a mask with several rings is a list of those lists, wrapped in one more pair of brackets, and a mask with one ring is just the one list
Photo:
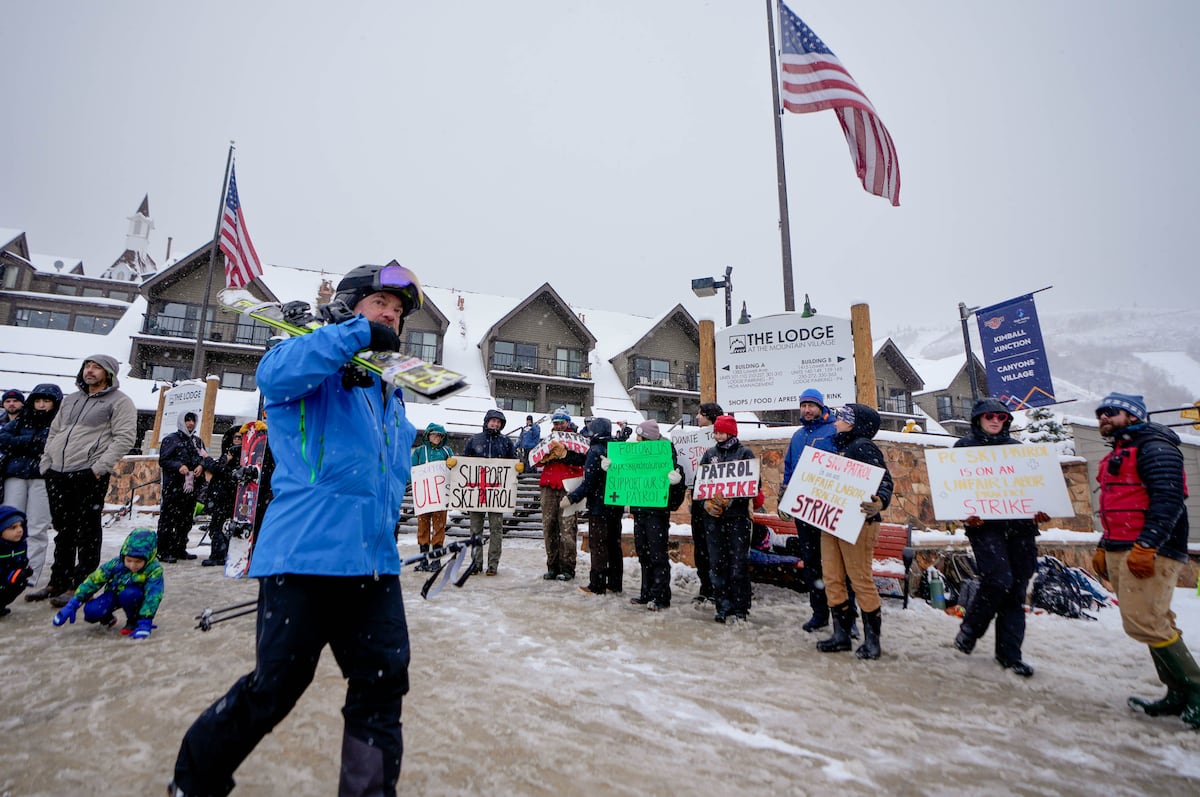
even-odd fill
[(605, 472), (602, 461), (607, 459), (608, 442), (612, 441), (612, 421), (593, 418), (588, 423), (588, 455), (583, 460), (583, 484), (566, 493), (559, 502), (563, 509), (588, 499), (588, 553), (592, 564), (588, 583), (581, 592), (602, 595), (623, 591), (624, 559), (620, 550), (620, 516), (624, 507), (610, 507), (604, 499)]

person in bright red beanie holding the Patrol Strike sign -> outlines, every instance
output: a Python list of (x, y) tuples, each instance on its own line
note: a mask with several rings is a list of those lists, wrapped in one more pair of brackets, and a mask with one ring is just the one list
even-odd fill
[[(754, 460), (754, 451), (738, 439), (738, 421), (733, 415), (719, 415), (713, 421), (716, 445), (704, 451), (700, 465)], [(704, 540), (708, 544), (709, 579), (718, 623), (744, 621), (750, 615), (750, 498), (716, 497), (702, 502)]]

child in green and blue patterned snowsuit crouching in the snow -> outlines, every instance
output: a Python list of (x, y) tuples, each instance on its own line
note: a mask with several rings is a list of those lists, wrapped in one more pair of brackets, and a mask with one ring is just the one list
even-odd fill
[(136, 640), (150, 636), (155, 612), (162, 601), (162, 565), (157, 549), (158, 535), (149, 528), (130, 532), (121, 544), (121, 553), (100, 565), (79, 585), (67, 605), (54, 616), (54, 624), (73, 623), (76, 612), (83, 606), (85, 622), (114, 625), (114, 612), (124, 609), (126, 622), (121, 634)]

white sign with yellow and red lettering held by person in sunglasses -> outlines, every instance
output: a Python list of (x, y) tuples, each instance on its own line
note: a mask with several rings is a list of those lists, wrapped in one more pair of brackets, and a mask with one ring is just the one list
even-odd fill
[(1075, 514), (1058, 455), (1049, 445), (926, 449), (925, 467), (937, 520)]

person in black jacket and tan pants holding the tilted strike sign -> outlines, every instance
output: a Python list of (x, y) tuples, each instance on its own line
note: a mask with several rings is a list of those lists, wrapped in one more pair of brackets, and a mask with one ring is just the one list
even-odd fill
[(854, 651), (859, 659), (880, 658), (880, 591), (871, 575), (871, 555), (880, 538), (880, 513), (892, 502), (892, 474), (888, 473), (883, 453), (871, 438), (880, 431), (880, 414), (866, 405), (846, 405), (838, 411), (834, 424), (838, 433), (834, 447), (838, 454), (883, 468), (883, 480), (870, 501), (862, 502), (860, 509), (866, 522), (853, 544), (821, 533), (821, 563), (824, 573), (826, 597), (833, 615), (833, 636), (817, 642), (822, 653), (850, 649), (850, 629), (854, 624), (854, 605), (850, 601), (846, 579), (854, 587), (854, 598), (863, 610), (863, 643)]

